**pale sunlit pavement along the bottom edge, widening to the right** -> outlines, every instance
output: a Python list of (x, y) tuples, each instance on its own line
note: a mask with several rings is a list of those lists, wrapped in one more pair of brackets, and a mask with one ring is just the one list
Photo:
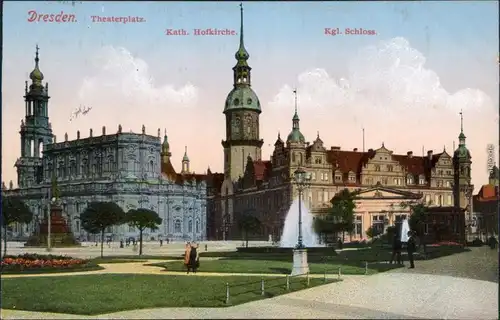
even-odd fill
[(1, 310), (3, 319), (497, 319), (498, 286), (449, 276), (347, 278), (228, 308), (157, 308), (99, 316)]

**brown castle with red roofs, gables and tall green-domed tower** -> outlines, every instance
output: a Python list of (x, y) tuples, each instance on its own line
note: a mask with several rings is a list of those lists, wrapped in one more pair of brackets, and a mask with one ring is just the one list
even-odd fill
[(401, 206), (408, 201), (425, 202), (436, 212), (460, 212), (457, 219), (452, 219), (451, 230), (457, 234), (463, 232), (463, 221), (472, 219), (473, 190), (463, 118), (459, 146), (453, 154), (443, 149), (429, 150), (422, 156), (412, 151), (400, 155), (383, 143), (368, 151), (342, 150), (339, 146), (328, 149), (319, 133), (312, 143), (301, 133), (295, 91), (290, 134), (286, 140), (278, 134), (271, 158), (263, 160), (259, 117), (264, 108), (252, 89), (255, 79), (251, 77), (250, 55), (244, 43), (243, 8), (235, 58), (233, 89), (223, 111), (224, 173), (209, 170), (207, 174), (210, 239), (241, 239), (238, 221), (251, 214), (261, 221), (256, 238), (279, 240), (286, 214), (293, 199), (298, 197), (293, 173), (299, 167), (311, 177), (303, 200), (314, 215), (324, 213), (337, 192), (346, 188), (361, 190), (356, 201), (352, 240), (366, 239), (370, 227), (382, 231), (396, 219), (408, 217), (409, 209)]

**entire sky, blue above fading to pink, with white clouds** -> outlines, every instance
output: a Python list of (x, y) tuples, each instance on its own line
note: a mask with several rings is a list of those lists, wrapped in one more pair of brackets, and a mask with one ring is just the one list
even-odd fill
[[(314, 139), (321, 131), (327, 145), (348, 148), (360, 147), (364, 126), (373, 148), (385, 141), (403, 154), (407, 150), (417, 153), (422, 145), (436, 151), (447, 145), (450, 150), (458, 135), (458, 110), (469, 108), (464, 113), (475, 184), (486, 180), (485, 144), (498, 141), (496, 1), (255, 1), (244, 2), (244, 9), (252, 87), (263, 108), (264, 159), (277, 132), (284, 135), (290, 129), (290, 87), (297, 86), (306, 138)], [(30, 10), (73, 13), (78, 22), (29, 23)], [(99, 24), (92, 23), (92, 15), (140, 16), (146, 22)], [(57, 136), (73, 132), (71, 138), (76, 130), (88, 132), (93, 127), (95, 131), (117, 123), (136, 130), (142, 123), (148, 128), (168, 128), (174, 161), (180, 162), (184, 146), (189, 145), (193, 168), (201, 172), (210, 165), (220, 170), (220, 140), (225, 135), (222, 110), (232, 89), (239, 37), (164, 33), (167, 28), (239, 31), (239, 18), (239, 2), (228, 1), (83, 2), (74, 6), (5, 1), (2, 136), (14, 145), (2, 147), (16, 150), (3, 153), (2, 172), (6, 170), (7, 180), (15, 177), (11, 164), (19, 150), (24, 81), (33, 69), (37, 43), (41, 69), (50, 83), (49, 114)], [(324, 34), (324, 28), (337, 27), (371, 29), (377, 35)], [(363, 51), (366, 48), (371, 51)], [(363, 57), (366, 52), (369, 56)], [(115, 69), (106, 69), (110, 65)], [(145, 67), (138, 78), (134, 76), (137, 65)], [(345, 82), (342, 79), (364, 86), (364, 92), (380, 94), (363, 101), (355, 91), (339, 89), (339, 83)], [(144, 86), (149, 80), (151, 88)], [(106, 83), (122, 91), (107, 92)], [(399, 86), (396, 91), (394, 83)], [(87, 94), (86, 101), (82, 92)], [(134, 92), (132, 98), (127, 96), (130, 92)], [(356, 96), (354, 102), (339, 102), (346, 94)], [(192, 108), (180, 99), (184, 95), (192, 98)], [(157, 102), (151, 102), (152, 96)], [(71, 110), (89, 103), (88, 99), (95, 115), (69, 123)], [(412, 102), (407, 105), (408, 101)], [(387, 106), (386, 110), (377, 111), (376, 103)], [(207, 146), (217, 152), (202, 154)]]

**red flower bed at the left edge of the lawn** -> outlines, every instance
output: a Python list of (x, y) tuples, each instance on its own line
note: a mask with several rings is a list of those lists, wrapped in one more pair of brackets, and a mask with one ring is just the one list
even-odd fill
[(68, 256), (24, 254), (5, 256), (1, 261), (2, 273), (63, 272), (100, 269), (90, 260)]

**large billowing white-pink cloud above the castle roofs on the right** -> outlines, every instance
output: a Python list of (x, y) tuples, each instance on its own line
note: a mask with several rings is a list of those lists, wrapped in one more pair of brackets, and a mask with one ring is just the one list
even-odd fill
[[(422, 145), (435, 151), (446, 145), (450, 152), (463, 110), (473, 182), (476, 186), (487, 182), (486, 144), (498, 143), (498, 110), (487, 94), (471, 88), (448, 92), (439, 76), (426, 68), (423, 54), (400, 37), (363, 48), (346, 63), (344, 78), (318, 68), (298, 76), (298, 105), (306, 138), (313, 140), (319, 129), (330, 135), (323, 137), (328, 144), (359, 148), (364, 127), (367, 149), (385, 141), (397, 153), (413, 150), (420, 154)], [(291, 110), (292, 105), (292, 88), (284, 85), (270, 102), (270, 112)], [(290, 119), (280, 123), (287, 130), (291, 112)]]

